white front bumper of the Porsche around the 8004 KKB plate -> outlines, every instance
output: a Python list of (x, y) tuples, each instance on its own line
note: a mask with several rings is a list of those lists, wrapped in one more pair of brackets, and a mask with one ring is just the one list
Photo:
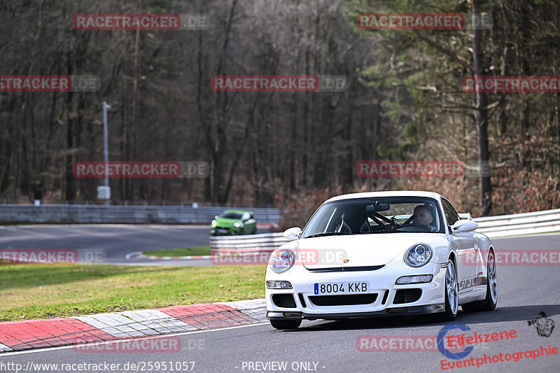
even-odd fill
[[(267, 271), (267, 281), (290, 281), (292, 289), (266, 289), (267, 319), (307, 319), (335, 320), (340, 318), (368, 318), (376, 316), (398, 316), (413, 314), (433, 314), (445, 310), (445, 271), (440, 263), (430, 262), (420, 268), (412, 268), (402, 262), (389, 262), (381, 269), (357, 272), (309, 272), (297, 265), (283, 274)], [(433, 274), (429, 283), (395, 285), (401, 276)], [(368, 281), (367, 295), (377, 297), (368, 304), (318, 305), (314, 293), (314, 283), (335, 283), (346, 281)], [(421, 290), (414, 302), (403, 302), (398, 290)], [(398, 294), (400, 293), (400, 294)], [(292, 295), (295, 307), (279, 307), (273, 295)], [(311, 299), (310, 299), (311, 297)], [(278, 299), (276, 297), (276, 299)]]

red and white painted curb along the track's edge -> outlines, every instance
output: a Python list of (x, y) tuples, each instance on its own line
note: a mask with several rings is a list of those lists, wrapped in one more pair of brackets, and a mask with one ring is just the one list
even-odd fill
[(228, 328), (266, 321), (264, 299), (0, 323), (0, 352)]

